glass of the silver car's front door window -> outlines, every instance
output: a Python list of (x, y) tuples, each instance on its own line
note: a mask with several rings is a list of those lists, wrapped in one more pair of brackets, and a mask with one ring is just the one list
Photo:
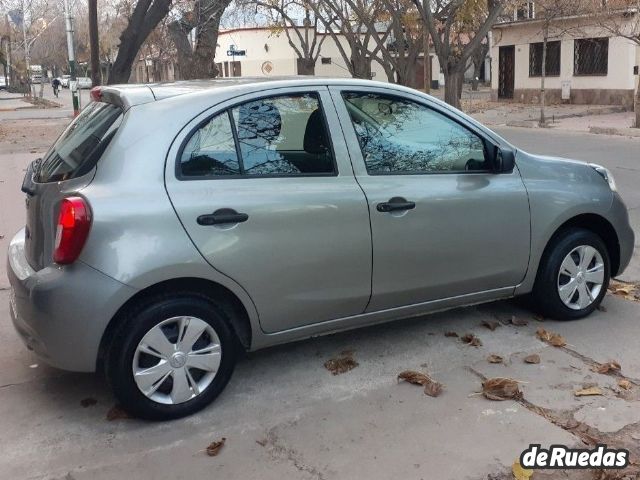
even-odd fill
[(378, 93), (343, 99), (371, 175), (490, 170), (482, 139), (437, 111)]

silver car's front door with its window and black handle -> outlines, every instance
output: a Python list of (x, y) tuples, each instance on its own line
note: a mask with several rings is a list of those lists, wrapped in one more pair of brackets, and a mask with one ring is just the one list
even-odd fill
[(494, 173), (481, 135), (425, 99), (331, 87), (369, 203), (367, 311), (517, 285), (529, 260), (529, 204), (517, 168)]

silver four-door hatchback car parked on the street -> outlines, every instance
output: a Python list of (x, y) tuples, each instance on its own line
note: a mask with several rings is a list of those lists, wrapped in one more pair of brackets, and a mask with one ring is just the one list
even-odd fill
[(151, 419), (242, 350), (530, 294), (576, 319), (630, 261), (611, 174), (418, 91), (288, 78), (96, 88), (28, 169), (11, 315)]

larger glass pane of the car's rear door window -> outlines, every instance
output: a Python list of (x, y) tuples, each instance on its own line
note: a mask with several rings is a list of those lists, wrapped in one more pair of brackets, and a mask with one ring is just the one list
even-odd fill
[(335, 174), (318, 96), (269, 97), (231, 110), (245, 175)]

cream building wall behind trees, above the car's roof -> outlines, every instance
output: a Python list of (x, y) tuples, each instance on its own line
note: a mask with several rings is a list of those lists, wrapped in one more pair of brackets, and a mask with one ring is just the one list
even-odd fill
[[(300, 29), (303, 33), (303, 29)], [(323, 35), (323, 34), (319, 34)], [(299, 45), (299, 40), (295, 32), (291, 32), (291, 37)], [(313, 38), (313, 37), (311, 37)], [(344, 37), (341, 37), (341, 44), (345, 51), (349, 51), (349, 46)], [(318, 39), (318, 42), (320, 38)], [(297, 75), (297, 54), (289, 45), (289, 40), (284, 32), (273, 33), (266, 28), (246, 28), (234, 29), (227, 32), (220, 32), (218, 36), (218, 49), (216, 50), (216, 63), (224, 64), (234, 60), (227, 55), (231, 45), (235, 45), (237, 50), (245, 50), (246, 55), (235, 57), (241, 63), (241, 73), (243, 76), (273, 76), (273, 75)], [(340, 50), (333, 37), (327, 35), (320, 49), (320, 58), (316, 62), (315, 75), (331, 77), (351, 77), (348, 68), (340, 54)], [(321, 58), (331, 59), (331, 63), (323, 64)], [(440, 64), (438, 58), (433, 57), (433, 67), (431, 77), (433, 80), (440, 78)], [(371, 70), (375, 80), (387, 81), (387, 75), (377, 62), (372, 62)]]

